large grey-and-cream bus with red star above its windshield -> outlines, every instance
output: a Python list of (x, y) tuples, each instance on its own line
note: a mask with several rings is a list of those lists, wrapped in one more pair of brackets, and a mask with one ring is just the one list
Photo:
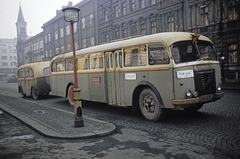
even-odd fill
[[(197, 111), (224, 96), (212, 41), (197, 33), (166, 32), (76, 51), (82, 100), (140, 110), (151, 121), (167, 109)], [(50, 64), (51, 92), (74, 102), (73, 53)]]

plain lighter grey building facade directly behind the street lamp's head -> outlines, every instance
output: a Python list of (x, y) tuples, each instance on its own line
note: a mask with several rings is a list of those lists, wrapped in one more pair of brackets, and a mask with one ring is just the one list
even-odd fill
[[(76, 50), (94, 46), (97, 43), (96, 3), (97, 1), (84, 0), (75, 5), (80, 9), (79, 21), (74, 23)], [(64, 7), (71, 6), (72, 2), (69, 2)], [(72, 51), (71, 24), (64, 20), (62, 10), (57, 10), (56, 16), (43, 24), (42, 28), (46, 58)]]

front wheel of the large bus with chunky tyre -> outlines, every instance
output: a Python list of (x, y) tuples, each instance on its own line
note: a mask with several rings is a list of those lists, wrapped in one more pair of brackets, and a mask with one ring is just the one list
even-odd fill
[(140, 110), (147, 120), (158, 121), (164, 118), (166, 110), (162, 109), (156, 94), (149, 88), (142, 90), (139, 97)]

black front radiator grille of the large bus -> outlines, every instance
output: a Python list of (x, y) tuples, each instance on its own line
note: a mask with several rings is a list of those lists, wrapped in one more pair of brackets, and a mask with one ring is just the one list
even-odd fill
[(195, 90), (199, 95), (216, 92), (216, 80), (214, 70), (194, 71)]

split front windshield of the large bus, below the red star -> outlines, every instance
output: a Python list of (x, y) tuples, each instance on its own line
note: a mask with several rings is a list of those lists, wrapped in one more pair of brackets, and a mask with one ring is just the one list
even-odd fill
[(184, 63), (192, 61), (217, 60), (216, 53), (210, 42), (181, 41), (171, 45), (171, 51), (175, 63)]

